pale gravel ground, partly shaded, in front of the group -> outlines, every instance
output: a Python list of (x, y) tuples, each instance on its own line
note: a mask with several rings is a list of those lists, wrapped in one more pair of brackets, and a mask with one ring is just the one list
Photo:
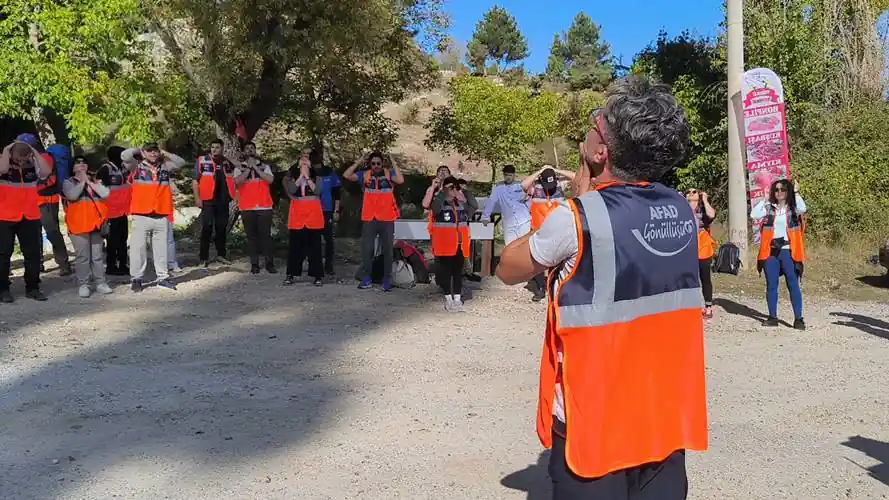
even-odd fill
[[(0, 306), (0, 498), (547, 498), (527, 292), (489, 281), (455, 316), (425, 286), (245, 271)], [(690, 498), (889, 498), (889, 307), (811, 299), (797, 333), (762, 306), (707, 328)]]

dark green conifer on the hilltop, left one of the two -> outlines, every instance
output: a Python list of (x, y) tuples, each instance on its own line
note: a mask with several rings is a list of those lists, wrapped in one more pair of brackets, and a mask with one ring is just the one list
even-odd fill
[(497, 5), (475, 25), (468, 49), (467, 62), (476, 74), (484, 72), (488, 61), (495, 63), (498, 73), (502, 73), (529, 54), (528, 40), (519, 31), (515, 18)]

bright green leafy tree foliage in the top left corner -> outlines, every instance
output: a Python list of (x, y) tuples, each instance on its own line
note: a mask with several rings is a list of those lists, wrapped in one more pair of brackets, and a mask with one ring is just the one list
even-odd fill
[(0, 10), (0, 115), (33, 118), (45, 140), (140, 142), (168, 104), (141, 41), (137, 0), (6, 0)]

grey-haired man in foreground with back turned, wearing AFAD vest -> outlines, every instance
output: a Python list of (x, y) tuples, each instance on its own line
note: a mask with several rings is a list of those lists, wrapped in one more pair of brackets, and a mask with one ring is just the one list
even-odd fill
[(551, 270), (537, 434), (553, 498), (684, 499), (685, 452), (707, 449), (697, 225), (655, 181), (689, 127), (668, 87), (638, 77), (590, 120), (577, 197), (507, 246), (497, 275)]

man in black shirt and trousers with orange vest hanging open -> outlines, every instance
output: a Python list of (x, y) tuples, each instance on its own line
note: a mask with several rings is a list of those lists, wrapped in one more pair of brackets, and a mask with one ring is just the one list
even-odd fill
[[(226, 257), (229, 203), (236, 198), (235, 167), (239, 164), (223, 155), (224, 144), (219, 139), (210, 143), (210, 152), (198, 157), (194, 165), (195, 206), (201, 209), (201, 244), (198, 258), (201, 265), (210, 265), (210, 240), (216, 246), (216, 261), (230, 265)], [(213, 238), (214, 231), (216, 237)]]

